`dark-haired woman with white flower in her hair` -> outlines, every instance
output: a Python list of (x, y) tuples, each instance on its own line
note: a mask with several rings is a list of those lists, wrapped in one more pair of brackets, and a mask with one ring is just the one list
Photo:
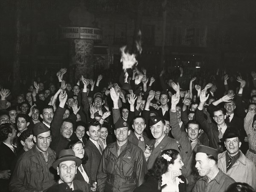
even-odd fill
[(183, 167), (177, 150), (164, 150), (157, 157), (146, 181), (134, 192), (186, 192), (186, 179), (181, 175)]

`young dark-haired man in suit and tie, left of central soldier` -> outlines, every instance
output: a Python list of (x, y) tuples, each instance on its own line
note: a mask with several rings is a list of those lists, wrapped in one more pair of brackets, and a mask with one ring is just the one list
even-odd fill
[(90, 121), (86, 131), (90, 138), (84, 146), (84, 152), (88, 156), (88, 161), (85, 164), (85, 168), (89, 178), (91, 178), (92, 181), (96, 181), (99, 161), (103, 152), (102, 147), (99, 144), (100, 126), (99, 121)]

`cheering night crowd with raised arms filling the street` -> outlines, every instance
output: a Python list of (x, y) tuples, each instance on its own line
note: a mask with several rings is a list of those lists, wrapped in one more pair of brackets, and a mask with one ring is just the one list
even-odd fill
[(1, 191), (256, 190), (255, 72), (65, 73), (1, 85)]

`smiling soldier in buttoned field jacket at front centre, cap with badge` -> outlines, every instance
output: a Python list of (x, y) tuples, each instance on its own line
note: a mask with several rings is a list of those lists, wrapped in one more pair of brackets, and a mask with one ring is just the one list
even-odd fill
[(100, 160), (98, 192), (131, 192), (143, 183), (146, 160), (143, 151), (128, 141), (130, 133), (126, 121), (119, 118), (115, 124), (116, 142), (105, 148)]

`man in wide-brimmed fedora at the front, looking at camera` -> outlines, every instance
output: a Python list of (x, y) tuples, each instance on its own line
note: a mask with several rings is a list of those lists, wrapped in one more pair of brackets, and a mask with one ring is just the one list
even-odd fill
[(71, 190), (79, 189), (88, 192), (89, 186), (85, 181), (74, 180), (77, 167), (79, 167), (81, 163), (82, 160), (75, 156), (73, 150), (61, 150), (59, 158), (52, 164), (52, 167), (57, 169), (57, 173), (60, 177), (56, 184), (66, 183)]

